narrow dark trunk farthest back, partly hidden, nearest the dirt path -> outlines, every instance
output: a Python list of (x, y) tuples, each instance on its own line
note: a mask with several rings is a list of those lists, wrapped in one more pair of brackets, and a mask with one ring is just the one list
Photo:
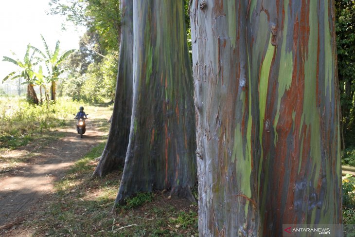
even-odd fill
[(124, 165), (128, 146), (133, 85), (133, 1), (121, 0), (122, 25), (120, 61), (118, 66), (115, 104), (106, 147), (93, 175), (104, 176), (114, 168)]

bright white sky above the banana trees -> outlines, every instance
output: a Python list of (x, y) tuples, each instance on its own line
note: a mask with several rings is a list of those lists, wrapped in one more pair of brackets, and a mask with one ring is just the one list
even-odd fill
[[(54, 50), (57, 40), (62, 52), (79, 48), (79, 37), (84, 29), (76, 29), (65, 17), (47, 15), (49, 0), (2, 0), (0, 6), (0, 83), (8, 74), (16, 70), (10, 62), (3, 62), (3, 56), (23, 59), (27, 45), (44, 51), (41, 34), (50, 50)], [(65, 23), (66, 31), (62, 30)], [(16, 55), (12, 55), (12, 52)]]

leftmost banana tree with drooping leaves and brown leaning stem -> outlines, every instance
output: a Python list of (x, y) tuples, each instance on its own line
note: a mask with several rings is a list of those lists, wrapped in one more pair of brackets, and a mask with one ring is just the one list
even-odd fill
[[(34, 89), (34, 67), (38, 62), (34, 62), (34, 52), (31, 51), (32, 46), (30, 44), (27, 45), (26, 54), (23, 58), (23, 61), (20, 59), (13, 59), (11, 57), (3, 56), (2, 61), (11, 62), (17, 65), (20, 69), (18, 71), (14, 71), (9, 73), (5, 78), (2, 79), (2, 83), (8, 79), (14, 80), (16, 78), (24, 78), (25, 83), (27, 84), (27, 100), (31, 103), (38, 105), (38, 98)], [(16, 55), (13, 53), (13, 55)]]

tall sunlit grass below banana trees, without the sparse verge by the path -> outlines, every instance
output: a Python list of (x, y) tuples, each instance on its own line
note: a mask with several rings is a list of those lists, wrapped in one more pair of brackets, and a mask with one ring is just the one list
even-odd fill
[(84, 106), (85, 111), (95, 118), (97, 128), (107, 130), (106, 118), (112, 113), (112, 105), (99, 107), (58, 98), (48, 106), (35, 106), (24, 98), (0, 97), (0, 152), (26, 146), (53, 129), (71, 126), (72, 114), (76, 114), (79, 106)]

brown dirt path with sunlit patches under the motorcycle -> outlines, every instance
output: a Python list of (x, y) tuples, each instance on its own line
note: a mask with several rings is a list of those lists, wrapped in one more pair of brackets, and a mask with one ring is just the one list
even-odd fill
[[(83, 139), (73, 128), (60, 131), (65, 133), (64, 137), (37, 150), (29, 162), (17, 166), (10, 177), (0, 180), (0, 226), (31, 215), (31, 209), (41, 197), (53, 191), (54, 181), (63, 178), (71, 164), (107, 134), (89, 123)], [(23, 152), (32, 151), (24, 148)], [(6, 155), (11, 157), (11, 153)]]

